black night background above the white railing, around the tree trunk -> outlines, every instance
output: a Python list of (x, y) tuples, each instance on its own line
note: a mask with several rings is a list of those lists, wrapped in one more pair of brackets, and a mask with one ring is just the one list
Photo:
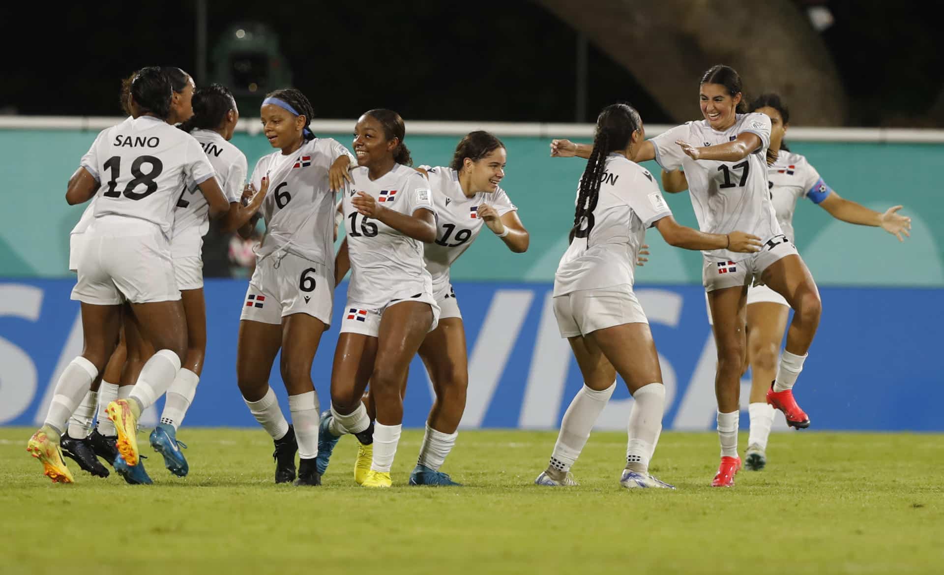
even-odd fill
[[(851, 125), (944, 126), (944, 34), (929, 13), (934, 3), (812, 4), (834, 15), (822, 34), (850, 98)], [(133, 69), (177, 65), (197, 75), (194, 2), (106, 0), (3, 13), (0, 113), (118, 115), (118, 82)], [(384, 107), (408, 119), (575, 120), (577, 33), (531, 2), (208, 0), (210, 74), (195, 77), (198, 84), (221, 79), (214, 49), (233, 26), (250, 22), (275, 32), (292, 83), (323, 118)], [(586, 118), (628, 100), (648, 122), (683, 119), (669, 117), (658, 94), (593, 44), (587, 77)]]

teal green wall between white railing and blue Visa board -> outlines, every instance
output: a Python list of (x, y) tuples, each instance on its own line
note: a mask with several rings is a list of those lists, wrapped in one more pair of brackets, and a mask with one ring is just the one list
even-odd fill
[[(6, 187), (5, 225), (0, 228), (0, 276), (69, 276), (69, 230), (84, 207), (64, 199), (66, 181), (92, 144), (95, 131), (0, 130), (0, 181)], [(348, 144), (348, 134), (322, 134)], [(482, 236), (455, 264), (453, 279), (548, 281), (566, 245), (573, 219), (576, 182), (583, 162), (548, 157), (548, 139), (505, 137), (507, 176), (502, 187), (531, 232), (528, 253), (516, 255), (495, 238)], [(407, 144), (416, 164), (447, 164), (454, 136), (413, 136)], [(250, 170), (268, 143), (238, 133)], [(839, 194), (885, 211), (902, 204), (912, 217), (911, 238), (900, 244), (877, 228), (851, 226), (801, 200), (795, 216), (797, 245), (822, 285), (944, 286), (944, 200), (936, 168), (944, 166), (944, 144), (791, 142)], [(649, 170), (659, 174), (654, 162)], [(696, 226), (687, 194), (668, 194), (677, 220)], [(936, 222), (938, 224), (936, 224)], [(640, 282), (700, 283), (697, 252), (673, 249), (657, 232), (648, 236), (652, 255)]]

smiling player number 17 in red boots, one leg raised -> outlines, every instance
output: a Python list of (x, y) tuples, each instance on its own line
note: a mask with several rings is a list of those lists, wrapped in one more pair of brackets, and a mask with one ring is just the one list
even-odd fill
[[(784, 412), (789, 425), (806, 428), (809, 417), (793, 397), (793, 385), (819, 324), (821, 304), (813, 276), (777, 223), (767, 191), (767, 146), (770, 119), (741, 113), (741, 78), (729, 66), (717, 65), (700, 78), (700, 122), (674, 127), (640, 146), (635, 161), (655, 159), (667, 171), (684, 168), (692, 207), (704, 231), (725, 233), (749, 229), (763, 238), (764, 248), (747, 257), (731, 250), (704, 255), (702, 281), (708, 292), (717, 344), (717, 429), (721, 463), (714, 486), (733, 486), (741, 466), (737, 456), (740, 374), (745, 359), (744, 308), (751, 282), (765, 283), (786, 298), (794, 310), (786, 349), (767, 402)], [(586, 145), (551, 144), (552, 155), (581, 156)], [(561, 153), (563, 152), (563, 154)]]

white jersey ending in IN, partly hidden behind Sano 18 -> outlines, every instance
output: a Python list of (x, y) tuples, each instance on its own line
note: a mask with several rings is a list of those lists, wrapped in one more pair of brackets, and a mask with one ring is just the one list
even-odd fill
[[(248, 170), (245, 155), (226, 138), (210, 129), (195, 129), (191, 132), (203, 148), (216, 172), (223, 194), (229, 203), (239, 202), (243, 195), (245, 175)], [(200, 238), (210, 230), (210, 205), (199, 188), (191, 186), (181, 190), (174, 212), (174, 245), (195, 248), (199, 255)]]

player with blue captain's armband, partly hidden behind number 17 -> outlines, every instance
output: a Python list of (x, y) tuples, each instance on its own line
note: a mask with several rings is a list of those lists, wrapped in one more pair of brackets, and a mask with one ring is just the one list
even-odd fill
[[(766, 114), (770, 118), (770, 153), (776, 160), (767, 168), (770, 182), (770, 199), (777, 221), (784, 235), (791, 242), (793, 214), (797, 200), (806, 197), (830, 213), (834, 218), (861, 226), (874, 226), (903, 241), (908, 236), (911, 218), (897, 211), (902, 206), (893, 206), (885, 212), (872, 211), (850, 199), (836, 194), (820, 178), (818, 171), (805, 157), (791, 152), (784, 142), (790, 126), (790, 110), (784, 106), (776, 93), (765, 93), (750, 104), (750, 111)], [(667, 178), (666, 178), (667, 176)], [(666, 192), (682, 192), (688, 182), (684, 172), (663, 173)], [(674, 182), (672, 185), (669, 182)], [(784, 339), (786, 320), (790, 306), (784, 296), (766, 285), (751, 285), (748, 288), (747, 314), (747, 363), (750, 365), (750, 437), (744, 465), (751, 470), (760, 470), (767, 465), (767, 438), (773, 423), (774, 409), (767, 404), (767, 387), (776, 377), (777, 354)]]

